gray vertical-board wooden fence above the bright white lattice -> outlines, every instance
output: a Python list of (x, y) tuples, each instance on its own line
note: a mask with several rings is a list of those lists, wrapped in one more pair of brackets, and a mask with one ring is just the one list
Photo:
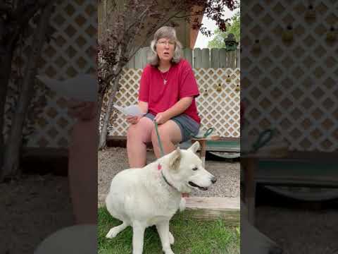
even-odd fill
[[(126, 68), (144, 68), (149, 47), (139, 49)], [(183, 57), (192, 68), (240, 68), (239, 49), (228, 52), (225, 49), (183, 49)]]

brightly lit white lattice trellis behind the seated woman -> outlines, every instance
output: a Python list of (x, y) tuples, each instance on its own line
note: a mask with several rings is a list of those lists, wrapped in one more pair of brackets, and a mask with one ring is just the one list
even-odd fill
[[(116, 105), (137, 103), (142, 69), (124, 69)], [(203, 128), (213, 127), (223, 137), (239, 137), (239, 68), (196, 68), (200, 96), (196, 103)], [(126, 135), (128, 124), (122, 114), (108, 128), (109, 135)]]

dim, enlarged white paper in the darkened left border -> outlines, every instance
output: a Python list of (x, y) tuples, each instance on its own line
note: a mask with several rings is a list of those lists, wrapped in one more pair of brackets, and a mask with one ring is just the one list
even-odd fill
[(62, 97), (82, 102), (95, 102), (97, 98), (97, 80), (94, 75), (80, 74), (68, 80), (56, 80), (37, 75), (37, 78)]

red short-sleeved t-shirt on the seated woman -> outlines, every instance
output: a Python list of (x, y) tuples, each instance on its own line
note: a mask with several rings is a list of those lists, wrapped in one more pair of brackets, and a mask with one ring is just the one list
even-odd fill
[[(164, 84), (165, 78), (167, 83)], [(163, 112), (183, 97), (194, 97), (192, 104), (182, 113), (201, 123), (197, 113), (195, 97), (199, 96), (192, 66), (185, 59), (174, 63), (169, 71), (162, 73), (158, 68), (147, 65), (142, 73), (139, 86), (139, 100), (148, 102), (148, 111), (151, 114)]]

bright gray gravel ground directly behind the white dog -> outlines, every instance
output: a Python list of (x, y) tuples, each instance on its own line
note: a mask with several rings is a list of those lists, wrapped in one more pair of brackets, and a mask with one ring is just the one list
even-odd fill
[[(156, 159), (154, 152), (149, 150), (146, 156), (147, 164)], [(206, 169), (217, 177), (218, 181), (208, 191), (193, 191), (191, 195), (205, 197), (239, 197), (239, 162), (206, 161)], [(122, 147), (111, 147), (99, 152), (98, 192), (99, 204), (104, 202), (111, 179), (119, 171), (127, 169), (127, 150)]]

